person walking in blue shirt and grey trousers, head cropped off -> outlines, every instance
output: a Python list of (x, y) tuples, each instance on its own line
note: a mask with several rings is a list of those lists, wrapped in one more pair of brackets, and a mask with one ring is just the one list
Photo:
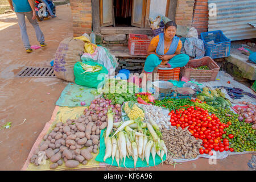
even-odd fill
[(27, 16), (28, 21), (32, 24), (36, 32), (36, 38), (40, 43), (41, 47), (46, 46), (44, 43), (44, 34), (41, 31), (38, 21), (36, 20), (36, 13), (34, 7), (34, 0), (8, 0), (13, 10), (18, 18), (18, 23), (20, 27), (20, 34), (22, 36), (23, 46), (26, 48), (26, 52), (32, 52), (30, 46), (30, 40), (27, 35), (27, 27), (25, 16)]

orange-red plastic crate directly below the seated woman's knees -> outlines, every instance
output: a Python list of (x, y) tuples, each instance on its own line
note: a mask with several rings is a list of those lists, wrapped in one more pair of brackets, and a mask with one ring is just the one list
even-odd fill
[(159, 80), (180, 80), (180, 68), (174, 68), (174, 69), (161, 69), (158, 68), (158, 76)]

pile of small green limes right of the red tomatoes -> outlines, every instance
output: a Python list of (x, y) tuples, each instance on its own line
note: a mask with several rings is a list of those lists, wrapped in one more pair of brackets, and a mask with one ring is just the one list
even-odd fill
[[(238, 121), (239, 115), (234, 114), (230, 109), (219, 108), (214, 114), (221, 122), (232, 123), (224, 129), (226, 134), (222, 135), (222, 139), (229, 140), (229, 147), (234, 148), (234, 152), (256, 151), (256, 131), (251, 128), (253, 124)], [(230, 139), (229, 134), (233, 134), (234, 138)]]

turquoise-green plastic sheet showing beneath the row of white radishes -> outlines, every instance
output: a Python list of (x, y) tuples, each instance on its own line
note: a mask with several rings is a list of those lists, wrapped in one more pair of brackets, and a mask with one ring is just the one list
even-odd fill
[[(101, 130), (100, 153), (96, 156), (96, 159), (95, 159), (98, 162), (104, 162), (103, 159), (104, 159), (104, 156), (105, 156), (106, 146), (105, 146), (105, 142), (104, 142), (105, 138), (104, 138), (103, 134), (104, 134), (105, 130), (106, 129)], [(160, 159), (160, 156), (156, 154), (155, 155), (155, 166), (161, 164), (165, 160), (166, 160), (166, 154), (164, 154), (164, 156), (163, 156), (163, 161)], [(121, 163), (121, 160), (119, 160), (119, 166), (120, 167), (134, 168), (134, 160), (133, 160), (132, 157), (130, 157), (130, 159), (129, 159), (126, 156), (125, 166), (123, 165), (123, 162), (124, 162), (124, 159), (123, 159), (122, 163)], [(107, 158), (105, 163), (111, 165), (112, 164), (112, 156), (110, 156), (110, 158)], [(115, 161), (115, 158), (114, 158), (114, 162), (113, 162), (112, 166), (118, 166), (117, 162)], [(137, 163), (136, 163), (136, 167), (150, 167), (150, 166), (154, 166), (154, 161), (153, 161), (153, 158), (152, 158), (152, 154), (150, 154), (148, 165), (147, 165), (146, 159), (141, 160), (140, 158), (138, 158)]]

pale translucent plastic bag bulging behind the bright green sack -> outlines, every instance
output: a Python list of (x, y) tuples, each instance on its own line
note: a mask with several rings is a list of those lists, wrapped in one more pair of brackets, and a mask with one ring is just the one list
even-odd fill
[(106, 69), (109, 71), (109, 76), (115, 72), (117, 68), (117, 59), (114, 55), (112, 55), (108, 49), (102, 46), (98, 46), (94, 53), (84, 53), (81, 56), (82, 61), (94, 61), (96, 63), (100, 63), (104, 65)]

